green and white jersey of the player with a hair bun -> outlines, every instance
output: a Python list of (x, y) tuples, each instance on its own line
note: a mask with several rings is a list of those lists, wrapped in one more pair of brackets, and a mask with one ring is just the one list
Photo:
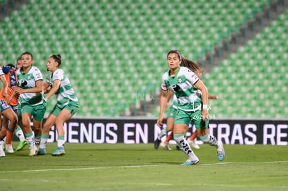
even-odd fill
[(55, 72), (47, 78), (47, 82), (50, 84), (51, 87), (53, 86), (53, 82), (55, 80), (61, 81), (60, 87), (55, 93), (57, 99), (57, 106), (66, 106), (70, 100), (78, 101), (78, 98), (72, 88), (70, 80), (67, 78), (63, 69), (56, 69)]

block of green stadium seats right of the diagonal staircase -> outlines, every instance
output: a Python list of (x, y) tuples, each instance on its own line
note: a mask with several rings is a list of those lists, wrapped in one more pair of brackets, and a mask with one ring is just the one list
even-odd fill
[(280, 15), (205, 75), (210, 93), (219, 96), (210, 101), (216, 117), (286, 117), (287, 19), (288, 12)]

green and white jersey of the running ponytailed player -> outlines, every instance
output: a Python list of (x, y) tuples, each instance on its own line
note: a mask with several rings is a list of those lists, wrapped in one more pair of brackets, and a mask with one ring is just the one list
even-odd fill
[(198, 76), (187, 67), (179, 67), (174, 77), (170, 76), (170, 70), (162, 76), (162, 90), (173, 90), (178, 101), (178, 109), (195, 111), (200, 109), (201, 100), (193, 90), (194, 84), (199, 80)]

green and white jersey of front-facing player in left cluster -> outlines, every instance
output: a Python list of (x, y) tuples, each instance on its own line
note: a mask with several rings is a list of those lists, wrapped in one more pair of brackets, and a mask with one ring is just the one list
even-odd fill
[[(29, 89), (36, 87), (36, 81), (42, 81), (43, 77), (40, 70), (32, 66), (28, 72), (22, 73), (22, 69), (17, 70), (19, 88)], [(22, 93), (19, 97), (20, 103), (29, 103), (31, 106), (37, 106), (43, 103), (43, 91), (38, 93)]]

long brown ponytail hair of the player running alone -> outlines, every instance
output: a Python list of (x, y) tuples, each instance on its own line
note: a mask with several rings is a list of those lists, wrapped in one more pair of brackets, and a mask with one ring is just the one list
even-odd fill
[(167, 58), (170, 53), (177, 53), (179, 60), (181, 60), (180, 66), (188, 67), (196, 75), (202, 74), (202, 72), (205, 72), (205, 69), (202, 68), (198, 63), (194, 63), (192, 60), (185, 58), (184, 56), (182, 56), (182, 54), (178, 50), (169, 51), (167, 54)]

